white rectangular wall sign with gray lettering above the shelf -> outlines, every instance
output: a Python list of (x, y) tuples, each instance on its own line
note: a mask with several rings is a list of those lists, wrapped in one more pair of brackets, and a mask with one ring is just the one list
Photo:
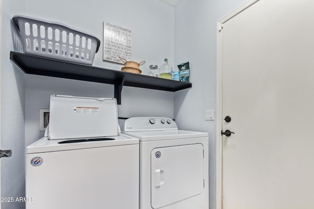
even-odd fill
[(121, 63), (132, 60), (132, 30), (104, 21), (103, 60)]

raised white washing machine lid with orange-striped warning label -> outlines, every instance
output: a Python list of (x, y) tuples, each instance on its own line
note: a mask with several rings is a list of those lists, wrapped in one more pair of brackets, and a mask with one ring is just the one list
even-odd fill
[(103, 138), (118, 136), (115, 98), (52, 94), (49, 139)]

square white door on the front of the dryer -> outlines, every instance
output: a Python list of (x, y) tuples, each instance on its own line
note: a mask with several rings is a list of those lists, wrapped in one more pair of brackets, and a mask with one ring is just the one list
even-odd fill
[(202, 144), (156, 148), (151, 153), (151, 205), (158, 209), (204, 190)]

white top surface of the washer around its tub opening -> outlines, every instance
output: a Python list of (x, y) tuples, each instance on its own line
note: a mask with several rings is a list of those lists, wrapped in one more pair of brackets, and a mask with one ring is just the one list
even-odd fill
[(120, 134), (114, 137), (105, 137), (102, 139), (57, 139), (51, 140), (43, 137), (26, 147), (26, 154), (56, 152), (76, 149), (87, 149), (97, 147), (109, 147), (120, 145), (139, 144), (139, 139)]

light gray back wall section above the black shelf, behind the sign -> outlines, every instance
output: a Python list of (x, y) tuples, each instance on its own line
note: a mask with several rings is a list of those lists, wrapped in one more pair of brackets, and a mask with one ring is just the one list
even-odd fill
[[(25, 0), (26, 15), (64, 23), (101, 40), (93, 65), (120, 70), (122, 65), (103, 62), (103, 22), (129, 28), (133, 33), (133, 61), (147, 74), (149, 65), (174, 62), (174, 8), (158, 0)], [(49, 9), (48, 9), (49, 7)]]

